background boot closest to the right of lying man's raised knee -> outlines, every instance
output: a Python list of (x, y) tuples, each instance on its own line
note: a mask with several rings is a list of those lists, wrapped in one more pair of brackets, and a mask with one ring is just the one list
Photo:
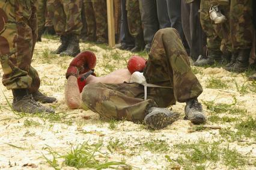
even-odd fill
[(201, 67), (204, 65), (213, 65), (215, 63), (222, 62), (222, 52), (217, 50), (210, 50), (210, 55), (207, 59), (198, 59), (198, 61), (194, 62), (195, 66)]

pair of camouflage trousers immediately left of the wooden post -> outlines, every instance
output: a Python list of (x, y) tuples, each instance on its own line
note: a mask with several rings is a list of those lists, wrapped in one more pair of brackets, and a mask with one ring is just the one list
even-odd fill
[(106, 41), (108, 37), (108, 19), (106, 1), (84, 0), (85, 17), (87, 19), (88, 37)]

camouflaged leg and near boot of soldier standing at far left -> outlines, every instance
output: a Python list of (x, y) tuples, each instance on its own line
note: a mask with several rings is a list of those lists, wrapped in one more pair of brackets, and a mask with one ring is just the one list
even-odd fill
[[(21, 9), (22, 11), (18, 11)], [(31, 67), (37, 40), (35, 4), (29, 2), (24, 7), (18, 2), (14, 6), (0, 1), (0, 11), (0, 60), (4, 71), (2, 83), (8, 90), (13, 91), (13, 109), (28, 113), (54, 112), (41, 106), (33, 98), (40, 93), (40, 79), (37, 71)], [(51, 98), (46, 97), (47, 99)]]

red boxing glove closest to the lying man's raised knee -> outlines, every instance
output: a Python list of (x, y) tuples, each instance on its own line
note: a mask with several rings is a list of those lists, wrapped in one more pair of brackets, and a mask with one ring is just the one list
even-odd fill
[(131, 74), (135, 71), (143, 72), (146, 62), (147, 60), (145, 58), (138, 55), (133, 55), (128, 61), (127, 68)]

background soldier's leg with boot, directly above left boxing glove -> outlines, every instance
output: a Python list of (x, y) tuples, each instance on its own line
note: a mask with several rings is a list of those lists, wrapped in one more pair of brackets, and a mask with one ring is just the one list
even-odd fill
[(60, 55), (76, 56), (80, 53), (79, 39), (82, 30), (82, 0), (63, 0), (66, 13), (66, 34), (69, 36), (67, 49)]

